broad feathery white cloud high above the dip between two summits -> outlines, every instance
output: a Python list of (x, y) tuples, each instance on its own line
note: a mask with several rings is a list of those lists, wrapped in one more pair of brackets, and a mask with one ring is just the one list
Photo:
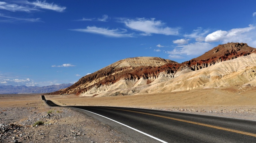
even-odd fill
[(136, 18), (126, 19), (122, 21), (125, 25), (133, 30), (141, 31), (141, 35), (164, 34), (164, 35), (178, 35), (179, 28), (170, 28), (165, 26), (165, 23), (155, 18)]

